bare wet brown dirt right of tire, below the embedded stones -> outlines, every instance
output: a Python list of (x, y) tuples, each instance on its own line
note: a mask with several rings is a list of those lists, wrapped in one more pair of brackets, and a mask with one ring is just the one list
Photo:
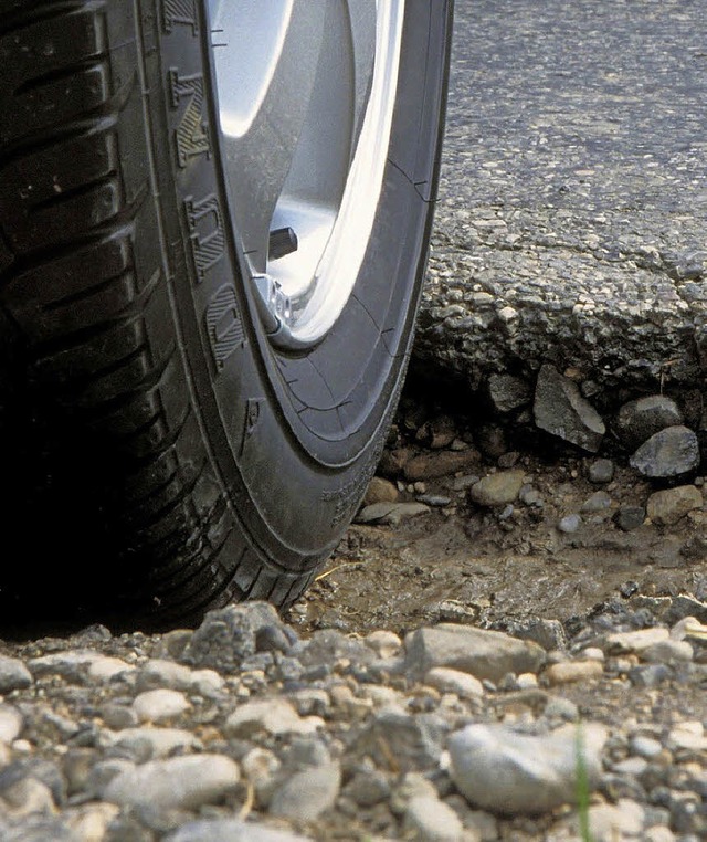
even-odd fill
[[(467, 431), (467, 439), (473, 435)], [(567, 622), (606, 600), (636, 593), (707, 597), (705, 511), (674, 526), (648, 519), (624, 531), (613, 519), (616, 509), (644, 506), (656, 486), (625, 457), (615, 456), (613, 480), (598, 485), (588, 477), (594, 456), (531, 445), (515, 451), (515, 467), (539, 492), (536, 505), (519, 503), (508, 516), (508, 511), (478, 507), (466, 491), (451, 490), (464, 484), (461, 475), (428, 481), (425, 494), (447, 495), (450, 504), (397, 526), (352, 525), (289, 621), (312, 629), (400, 633), (434, 621), (486, 625), (537, 615)], [(494, 460), (482, 457), (475, 473), (494, 470)], [(699, 477), (693, 481), (701, 484)], [(403, 499), (419, 496), (409, 492), (412, 486), (399, 482), (399, 487)], [(598, 490), (610, 496), (610, 506), (582, 513)], [(558, 524), (571, 513), (581, 513), (582, 523), (564, 534)]]

